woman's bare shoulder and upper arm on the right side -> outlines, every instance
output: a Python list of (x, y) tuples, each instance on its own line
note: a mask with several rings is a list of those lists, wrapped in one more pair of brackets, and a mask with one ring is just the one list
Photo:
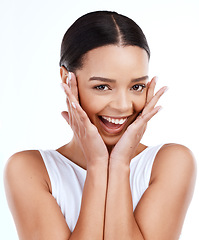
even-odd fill
[(144, 239), (178, 239), (191, 201), (196, 165), (184, 146), (165, 145), (156, 156), (151, 184), (135, 210)]

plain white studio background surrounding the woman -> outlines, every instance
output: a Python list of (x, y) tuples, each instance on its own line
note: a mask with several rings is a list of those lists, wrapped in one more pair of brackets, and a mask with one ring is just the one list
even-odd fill
[[(150, 77), (159, 76), (158, 87), (169, 86), (143, 143), (181, 143), (198, 159), (198, 0), (0, 0), (0, 239), (18, 239), (3, 188), (9, 156), (55, 149), (71, 138), (60, 114), (66, 109), (60, 44), (67, 28), (94, 10), (118, 11), (140, 25), (152, 52)], [(198, 192), (197, 181), (183, 240), (199, 239)]]

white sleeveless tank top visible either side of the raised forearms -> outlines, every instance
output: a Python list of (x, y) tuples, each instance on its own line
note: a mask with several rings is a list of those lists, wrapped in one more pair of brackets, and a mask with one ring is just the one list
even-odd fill
[[(156, 154), (163, 144), (147, 147), (131, 160), (130, 187), (135, 210), (149, 186), (151, 170)], [(80, 212), (86, 170), (64, 157), (56, 150), (39, 150), (45, 163), (56, 199), (66, 223), (73, 232)]]

